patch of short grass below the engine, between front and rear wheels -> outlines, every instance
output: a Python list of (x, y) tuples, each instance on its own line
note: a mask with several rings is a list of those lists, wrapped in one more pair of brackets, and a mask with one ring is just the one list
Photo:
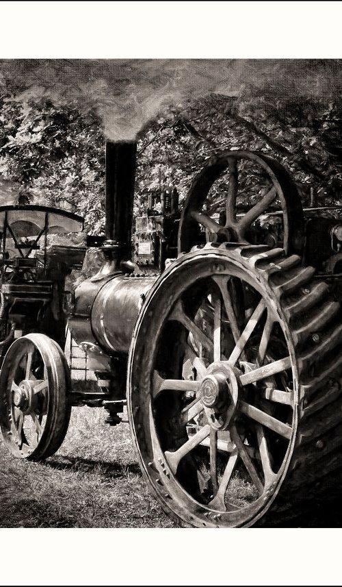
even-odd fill
[(60, 450), (43, 463), (14, 458), (0, 441), (0, 527), (175, 527), (150, 495), (128, 424), (73, 408)]

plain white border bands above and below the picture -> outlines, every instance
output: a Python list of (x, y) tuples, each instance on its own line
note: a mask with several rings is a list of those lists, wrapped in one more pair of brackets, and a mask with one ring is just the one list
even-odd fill
[[(339, 1), (18, 1), (0, 16), (0, 58), (342, 56)], [(1, 529), (0, 584), (339, 585), (340, 544), (340, 529)]]

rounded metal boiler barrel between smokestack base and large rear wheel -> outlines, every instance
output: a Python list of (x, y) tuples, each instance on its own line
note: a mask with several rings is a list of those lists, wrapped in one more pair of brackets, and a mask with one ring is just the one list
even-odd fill
[(92, 332), (107, 353), (128, 353), (137, 316), (155, 279), (117, 275), (98, 292), (92, 305)]

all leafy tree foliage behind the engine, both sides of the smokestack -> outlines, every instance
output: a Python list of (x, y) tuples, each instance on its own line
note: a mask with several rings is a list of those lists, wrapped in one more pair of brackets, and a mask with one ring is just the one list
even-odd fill
[[(224, 149), (251, 149), (278, 159), (298, 184), (304, 203), (342, 203), (342, 103), (324, 99), (280, 100), (272, 95), (210, 95), (173, 108), (140, 134), (135, 215), (150, 192), (177, 186), (181, 199), (205, 161)], [(0, 179), (21, 185), (34, 203), (68, 208), (86, 217), (86, 230), (104, 227), (104, 142), (94, 110), (74, 103), (0, 98)], [(259, 190), (255, 170), (241, 183), (241, 204)], [(215, 212), (227, 187), (211, 190)]]

